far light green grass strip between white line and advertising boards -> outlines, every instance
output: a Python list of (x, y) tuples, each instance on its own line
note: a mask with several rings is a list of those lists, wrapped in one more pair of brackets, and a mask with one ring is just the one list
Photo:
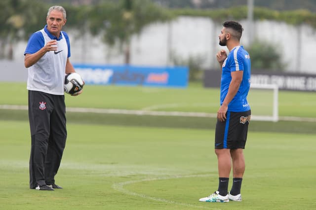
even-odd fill
[[(25, 83), (0, 83), (0, 105), (27, 105)], [(272, 92), (251, 90), (249, 104), (252, 114), (271, 114)], [(219, 90), (202, 88), (191, 83), (187, 89), (93, 86), (86, 85), (80, 97), (66, 97), (70, 107), (94, 107), (163, 111), (192, 111), (216, 113), (219, 108)], [(316, 94), (308, 92), (279, 92), (279, 115), (314, 117)]]

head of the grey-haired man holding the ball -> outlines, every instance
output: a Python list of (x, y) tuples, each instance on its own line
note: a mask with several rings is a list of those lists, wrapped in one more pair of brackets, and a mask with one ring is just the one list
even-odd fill
[(49, 16), (46, 18), (47, 30), (57, 37), (59, 37), (61, 29), (66, 23), (63, 13), (57, 10), (50, 12)]

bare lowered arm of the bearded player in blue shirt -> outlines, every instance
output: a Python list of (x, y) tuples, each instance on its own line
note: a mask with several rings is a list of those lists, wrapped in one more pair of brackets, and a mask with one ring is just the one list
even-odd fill
[(217, 118), (221, 122), (226, 120), (226, 112), (228, 110), (228, 105), (229, 103), (231, 103), (231, 101), (234, 99), (234, 97), (236, 96), (238, 92), (240, 83), (242, 81), (243, 71), (242, 70), (233, 71), (231, 72), (231, 75), (232, 75), (232, 81), (229, 85), (228, 93), (223, 101), (223, 104), (217, 111)]

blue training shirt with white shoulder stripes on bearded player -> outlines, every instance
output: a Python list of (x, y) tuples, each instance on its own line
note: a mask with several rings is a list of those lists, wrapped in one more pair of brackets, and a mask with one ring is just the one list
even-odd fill
[(221, 105), (228, 93), (232, 81), (231, 73), (242, 70), (243, 76), (236, 96), (228, 105), (228, 111), (242, 112), (250, 110), (247, 102), (247, 95), (250, 88), (250, 56), (243, 46), (237, 46), (231, 50), (222, 66), (221, 79)]

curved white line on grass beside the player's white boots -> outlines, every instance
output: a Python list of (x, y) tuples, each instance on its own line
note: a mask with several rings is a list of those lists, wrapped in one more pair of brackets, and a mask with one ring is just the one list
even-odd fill
[[(124, 188), (125, 185), (134, 184), (134, 183), (143, 182), (143, 181), (156, 181), (156, 180), (172, 179), (172, 178), (190, 178), (190, 177), (208, 177), (208, 176), (211, 176), (211, 175), (177, 175), (177, 176), (165, 176), (165, 177), (158, 177), (158, 178), (147, 178), (147, 179), (142, 179), (142, 180), (132, 180), (132, 181), (124, 181), (124, 182), (114, 183), (112, 185), (112, 188), (121, 192), (121, 193), (124, 193), (126, 195), (137, 196), (137, 197), (141, 197), (141, 198), (152, 200), (152, 201), (158, 201), (158, 202), (181, 205), (181, 206), (198, 208), (198, 209), (209, 209), (209, 207), (186, 204), (186, 203), (184, 203), (185, 201), (183, 203), (180, 203), (180, 202), (175, 202), (175, 201), (169, 201), (169, 200), (163, 199), (163, 198), (147, 196), (144, 194), (129, 191), (129, 190)], [(197, 202), (198, 202), (198, 199), (199, 198), (196, 198)]]

